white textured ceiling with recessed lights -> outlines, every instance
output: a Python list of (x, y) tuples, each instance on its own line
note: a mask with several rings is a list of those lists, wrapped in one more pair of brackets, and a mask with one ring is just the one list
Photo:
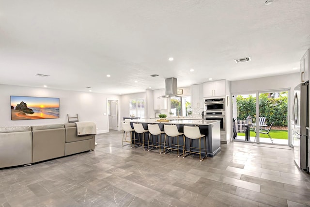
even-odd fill
[(310, 0), (0, 0), (0, 84), (128, 94), (297, 72), (308, 48)]

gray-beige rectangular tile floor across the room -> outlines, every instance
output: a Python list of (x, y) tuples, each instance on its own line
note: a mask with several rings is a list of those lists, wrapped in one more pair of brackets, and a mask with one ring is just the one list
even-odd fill
[(0, 170), (1, 207), (303, 207), (310, 175), (293, 150), (222, 144), (214, 158), (178, 158), (96, 136), (95, 151)]

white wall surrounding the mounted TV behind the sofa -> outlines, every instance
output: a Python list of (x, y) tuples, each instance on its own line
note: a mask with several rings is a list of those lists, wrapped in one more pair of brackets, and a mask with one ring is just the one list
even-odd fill
[[(38, 96), (60, 98), (59, 119), (11, 120), (10, 96)], [(34, 126), (68, 123), (67, 114), (78, 113), (79, 121), (92, 121), (97, 125), (97, 133), (109, 132), (107, 117), (107, 98), (119, 96), (55, 90), (48, 88), (23, 87), (0, 84), (0, 126)], [(104, 115), (104, 113), (106, 115)]]

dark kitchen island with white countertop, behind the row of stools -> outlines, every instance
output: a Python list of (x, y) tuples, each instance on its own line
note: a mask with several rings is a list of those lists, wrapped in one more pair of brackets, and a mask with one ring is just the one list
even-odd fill
[[(158, 121), (157, 121), (158, 120)], [(169, 120), (169, 121), (160, 121), (159, 119), (139, 119), (131, 120), (131, 127), (133, 128), (133, 123), (141, 123), (144, 129), (148, 129), (148, 124), (158, 124), (160, 130), (164, 131), (164, 125), (176, 125), (179, 132), (183, 132), (183, 126), (198, 126), (201, 134), (206, 135), (207, 142), (207, 156), (214, 157), (220, 150), (220, 123), (219, 121), (212, 120)], [(132, 134), (132, 136), (134, 133)], [(137, 135), (136, 135), (137, 136)], [(148, 141), (149, 133), (145, 133), (145, 141)], [(163, 138), (162, 138), (163, 140)], [(202, 141), (202, 146), (204, 139)], [(183, 136), (179, 136), (179, 143), (183, 143)], [(186, 139), (186, 145), (189, 143)], [(147, 144), (147, 142), (145, 142)], [(194, 140), (192, 146), (199, 147), (198, 140)], [(194, 150), (196, 151), (196, 150)]]

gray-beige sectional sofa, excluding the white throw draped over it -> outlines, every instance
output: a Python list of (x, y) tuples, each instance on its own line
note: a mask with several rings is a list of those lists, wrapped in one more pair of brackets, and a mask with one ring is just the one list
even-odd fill
[(0, 127), (0, 168), (94, 150), (95, 134), (77, 136), (75, 123)]

